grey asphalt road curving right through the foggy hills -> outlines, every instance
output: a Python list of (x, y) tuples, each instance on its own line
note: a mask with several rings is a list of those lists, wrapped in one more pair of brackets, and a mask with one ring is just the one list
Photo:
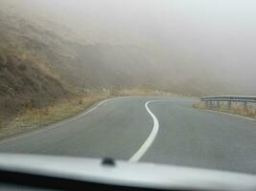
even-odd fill
[(0, 152), (147, 161), (256, 173), (256, 122), (197, 100), (119, 97), (79, 117), (0, 141)]

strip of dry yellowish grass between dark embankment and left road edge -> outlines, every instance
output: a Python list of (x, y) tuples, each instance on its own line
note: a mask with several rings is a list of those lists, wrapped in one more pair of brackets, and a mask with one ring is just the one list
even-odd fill
[(3, 123), (0, 126), (0, 138), (8, 138), (58, 122), (68, 117), (76, 116), (97, 101), (105, 99), (107, 96), (109, 95), (104, 93), (90, 93), (87, 96), (62, 98), (52, 106), (42, 109), (27, 108), (13, 120)]

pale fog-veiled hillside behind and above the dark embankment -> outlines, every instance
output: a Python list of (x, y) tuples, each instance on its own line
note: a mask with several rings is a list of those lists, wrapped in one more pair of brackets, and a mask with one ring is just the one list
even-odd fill
[(151, 88), (194, 96), (234, 92), (232, 86), (221, 85), (221, 79), (203, 63), (197, 66), (186, 54), (152, 47), (152, 42), (127, 33), (117, 35), (123, 34), (123, 39), (102, 40), (86, 32), (81, 35), (54, 17), (49, 20), (16, 8), (2, 9), (0, 13), (0, 46), (35, 55), (71, 87)]

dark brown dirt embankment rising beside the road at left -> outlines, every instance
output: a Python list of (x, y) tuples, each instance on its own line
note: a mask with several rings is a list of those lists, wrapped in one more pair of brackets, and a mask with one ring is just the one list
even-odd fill
[(44, 73), (22, 54), (0, 53), (0, 121), (28, 108), (42, 108), (68, 92), (54, 76)]

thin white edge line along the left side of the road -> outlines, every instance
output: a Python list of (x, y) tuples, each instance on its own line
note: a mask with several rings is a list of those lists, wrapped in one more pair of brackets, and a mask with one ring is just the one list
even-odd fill
[(123, 97), (113, 97), (113, 98), (108, 98), (108, 99), (105, 99), (103, 101), (101, 101), (100, 103), (98, 103), (96, 106), (92, 107), (91, 109), (89, 109), (88, 111), (85, 111), (84, 113), (82, 113), (81, 115), (78, 115), (77, 117), (70, 117), (70, 118), (67, 118), (67, 119), (64, 119), (63, 121), (59, 121), (57, 123), (54, 123), (54, 124), (50, 124), (49, 126), (46, 126), (46, 127), (42, 127), (42, 129), (37, 129), (35, 131), (29, 131), (28, 133), (24, 133), (24, 134), (21, 134), (21, 135), (17, 135), (17, 136), (13, 136), (12, 138), (5, 138), (3, 140), (0, 140), (0, 145), (1, 144), (4, 144), (6, 142), (9, 142), (9, 141), (12, 141), (12, 140), (15, 140), (15, 139), (18, 139), (18, 138), (25, 138), (27, 136), (31, 136), (31, 135), (35, 135), (35, 134), (38, 134), (38, 133), (41, 133), (41, 132), (44, 132), (44, 131), (47, 131), (49, 129), (53, 129), (53, 128), (56, 128), (64, 123), (68, 123), (68, 122), (71, 122), (71, 121), (74, 121), (74, 120), (77, 120), (78, 118), (81, 118), (81, 117), (84, 117), (86, 115), (88, 115), (89, 113), (93, 112), (94, 110), (96, 110), (98, 107), (100, 107), (101, 105), (103, 105), (105, 102), (109, 101), (109, 100), (112, 100), (112, 99), (118, 99), (118, 98), (123, 98)]

